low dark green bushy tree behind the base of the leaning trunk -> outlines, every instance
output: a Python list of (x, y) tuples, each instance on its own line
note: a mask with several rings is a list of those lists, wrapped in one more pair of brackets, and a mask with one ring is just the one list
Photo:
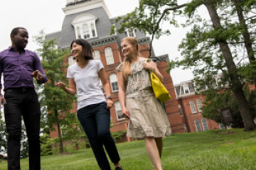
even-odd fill
[[(243, 88), (247, 102), (250, 107), (252, 118), (256, 116), (256, 91), (250, 91), (249, 86)], [(217, 123), (223, 123), (221, 109), (230, 108), (238, 128), (242, 128), (242, 117), (238, 108), (233, 92), (230, 89), (223, 91), (208, 91), (201, 110), (204, 118), (215, 120)]]

